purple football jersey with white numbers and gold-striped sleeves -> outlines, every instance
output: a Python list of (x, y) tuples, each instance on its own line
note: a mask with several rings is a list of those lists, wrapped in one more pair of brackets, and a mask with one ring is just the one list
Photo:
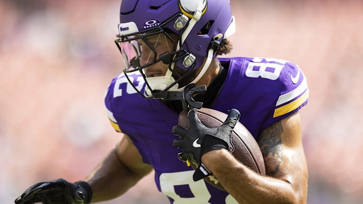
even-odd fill
[[(309, 90), (301, 70), (289, 61), (272, 58), (220, 58), (228, 74), (212, 109), (228, 114), (236, 108), (239, 121), (257, 140), (272, 123), (291, 115), (308, 102)], [(143, 93), (143, 78), (131, 78)], [(153, 166), (155, 183), (171, 203), (237, 203), (228, 193), (204, 180), (193, 181), (194, 170), (177, 158), (171, 128), (178, 114), (156, 99), (144, 99), (124, 74), (106, 91), (105, 105), (114, 129), (133, 141), (143, 161)]]

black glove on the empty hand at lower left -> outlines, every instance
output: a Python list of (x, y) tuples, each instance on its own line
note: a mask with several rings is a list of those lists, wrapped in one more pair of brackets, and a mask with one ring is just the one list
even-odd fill
[(87, 204), (92, 198), (91, 186), (84, 181), (71, 183), (63, 178), (30, 186), (15, 200), (16, 204)]

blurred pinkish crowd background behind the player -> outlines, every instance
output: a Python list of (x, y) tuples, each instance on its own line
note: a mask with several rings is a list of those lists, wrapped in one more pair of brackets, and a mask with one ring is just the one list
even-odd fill
[[(287, 59), (308, 78), (308, 203), (363, 203), (363, 1), (230, 2), (229, 56)], [(123, 137), (103, 106), (123, 67), (113, 42), (119, 5), (0, 0), (0, 203), (38, 181), (82, 179)], [(151, 174), (104, 203), (167, 199)]]

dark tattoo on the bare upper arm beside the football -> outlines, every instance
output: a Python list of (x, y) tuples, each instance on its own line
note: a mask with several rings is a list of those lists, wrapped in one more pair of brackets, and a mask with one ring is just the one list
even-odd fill
[(279, 171), (283, 156), (281, 145), (282, 130), (281, 121), (275, 122), (267, 127), (258, 139), (268, 175), (274, 175)]

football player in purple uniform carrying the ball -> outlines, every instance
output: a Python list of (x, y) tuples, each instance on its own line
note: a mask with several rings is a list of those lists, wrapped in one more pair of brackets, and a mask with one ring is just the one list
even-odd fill
[[(125, 70), (111, 81), (105, 105), (113, 128), (125, 137), (82, 181), (36, 183), (17, 204), (109, 200), (153, 169), (170, 203), (306, 202), (308, 167), (298, 111), (308, 102), (307, 80), (286, 60), (217, 57), (230, 51), (227, 37), (235, 30), (228, 0), (123, 0), (117, 28)], [(194, 109), (193, 132), (176, 126), (185, 108), (183, 91), (193, 84), (207, 87), (194, 96), (203, 107), (229, 114), (218, 127), (225, 135), (201, 125)], [(228, 151), (223, 139), (237, 120), (258, 142), (266, 176)], [(200, 143), (182, 140), (191, 134)], [(191, 154), (199, 155), (194, 159), (226, 191), (193, 176), (196, 171), (180, 161), (193, 159), (184, 157)]]

